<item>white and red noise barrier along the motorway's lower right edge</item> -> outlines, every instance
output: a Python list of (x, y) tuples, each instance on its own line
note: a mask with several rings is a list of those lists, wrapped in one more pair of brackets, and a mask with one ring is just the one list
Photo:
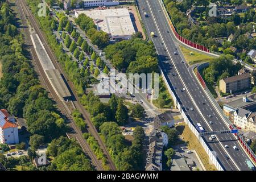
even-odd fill
[[(199, 81), (202, 79), (199, 71), (201, 69), (207, 67), (208, 65), (209, 65), (209, 63), (203, 63), (203, 64), (199, 65), (199, 67), (197, 67), (196, 76), (199, 79)], [(207, 96), (212, 101), (212, 104), (217, 109), (217, 112), (220, 114), (222, 119), (225, 121), (226, 125), (229, 126), (229, 129), (230, 130), (236, 129), (236, 127), (233, 126), (233, 123), (229, 121), (229, 119), (226, 117), (226, 115), (224, 115), (224, 112), (221, 110), (221, 107), (218, 105), (218, 103), (213, 98), (212, 94), (210, 93), (210, 90), (207, 88), (207, 86), (205, 86), (205, 82), (203, 81), (203, 83), (202, 83), (200, 81), (200, 83), (204, 87), (205, 91), (207, 92)], [(243, 137), (239, 133), (238, 134), (234, 134), (234, 135), (238, 138), (239, 142), (242, 144), (243, 148), (245, 148), (247, 154), (249, 154), (251, 159), (253, 159), (254, 163), (256, 163), (256, 155), (254, 154), (253, 150), (251, 150), (250, 146), (245, 142)]]

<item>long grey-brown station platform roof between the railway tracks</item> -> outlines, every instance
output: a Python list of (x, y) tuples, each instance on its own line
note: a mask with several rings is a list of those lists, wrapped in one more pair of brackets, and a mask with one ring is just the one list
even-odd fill
[(68, 90), (60, 72), (57, 69), (50, 69), (46, 71), (47, 77), (51, 82), (53, 89), (61, 98), (71, 97), (71, 93)]

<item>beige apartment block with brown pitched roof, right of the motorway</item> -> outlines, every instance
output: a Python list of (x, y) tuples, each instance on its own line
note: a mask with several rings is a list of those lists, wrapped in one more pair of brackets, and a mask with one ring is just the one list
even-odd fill
[(236, 93), (251, 87), (251, 75), (245, 73), (220, 80), (220, 91), (222, 93)]

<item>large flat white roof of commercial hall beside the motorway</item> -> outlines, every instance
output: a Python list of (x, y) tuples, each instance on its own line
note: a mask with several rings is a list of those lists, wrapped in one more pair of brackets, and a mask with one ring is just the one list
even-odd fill
[(98, 22), (100, 30), (115, 36), (125, 36), (135, 34), (133, 23), (131, 22), (129, 11), (123, 9), (106, 10), (82, 10), (78, 14), (84, 13)]

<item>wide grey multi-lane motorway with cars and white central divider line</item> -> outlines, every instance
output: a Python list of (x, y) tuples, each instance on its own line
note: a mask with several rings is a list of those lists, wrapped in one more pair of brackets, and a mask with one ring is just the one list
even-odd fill
[[(150, 36), (150, 32), (154, 32), (156, 35), (152, 41), (159, 55), (159, 65), (169, 79), (169, 84), (175, 89), (181, 107), (184, 107), (188, 117), (194, 125), (200, 123), (207, 131), (228, 130), (228, 126), (208, 100), (203, 88), (189, 73), (188, 64), (183, 61), (185, 60), (184, 56), (175, 42), (175, 37), (159, 0), (140, 0), (137, 3), (148, 35)], [(144, 12), (148, 14), (148, 17), (144, 16)], [(174, 52), (177, 52), (177, 55)], [(209, 121), (212, 121), (213, 124), (210, 125)], [(245, 163), (245, 159), (249, 159), (249, 156), (242, 150), (236, 137), (233, 134), (220, 134), (216, 137), (217, 139), (213, 139), (213, 141), (209, 140), (209, 136), (203, 138), (209, 148), (216, 152), (217, 160), (222, 168), (225, 170), (249, 170)], [(225, 148), (225, 145), (229, 147)], [(237, 146), (239, 150), (233, 150), (233, 146)], [(227, 155), (229, 159), (226, 159)]]

